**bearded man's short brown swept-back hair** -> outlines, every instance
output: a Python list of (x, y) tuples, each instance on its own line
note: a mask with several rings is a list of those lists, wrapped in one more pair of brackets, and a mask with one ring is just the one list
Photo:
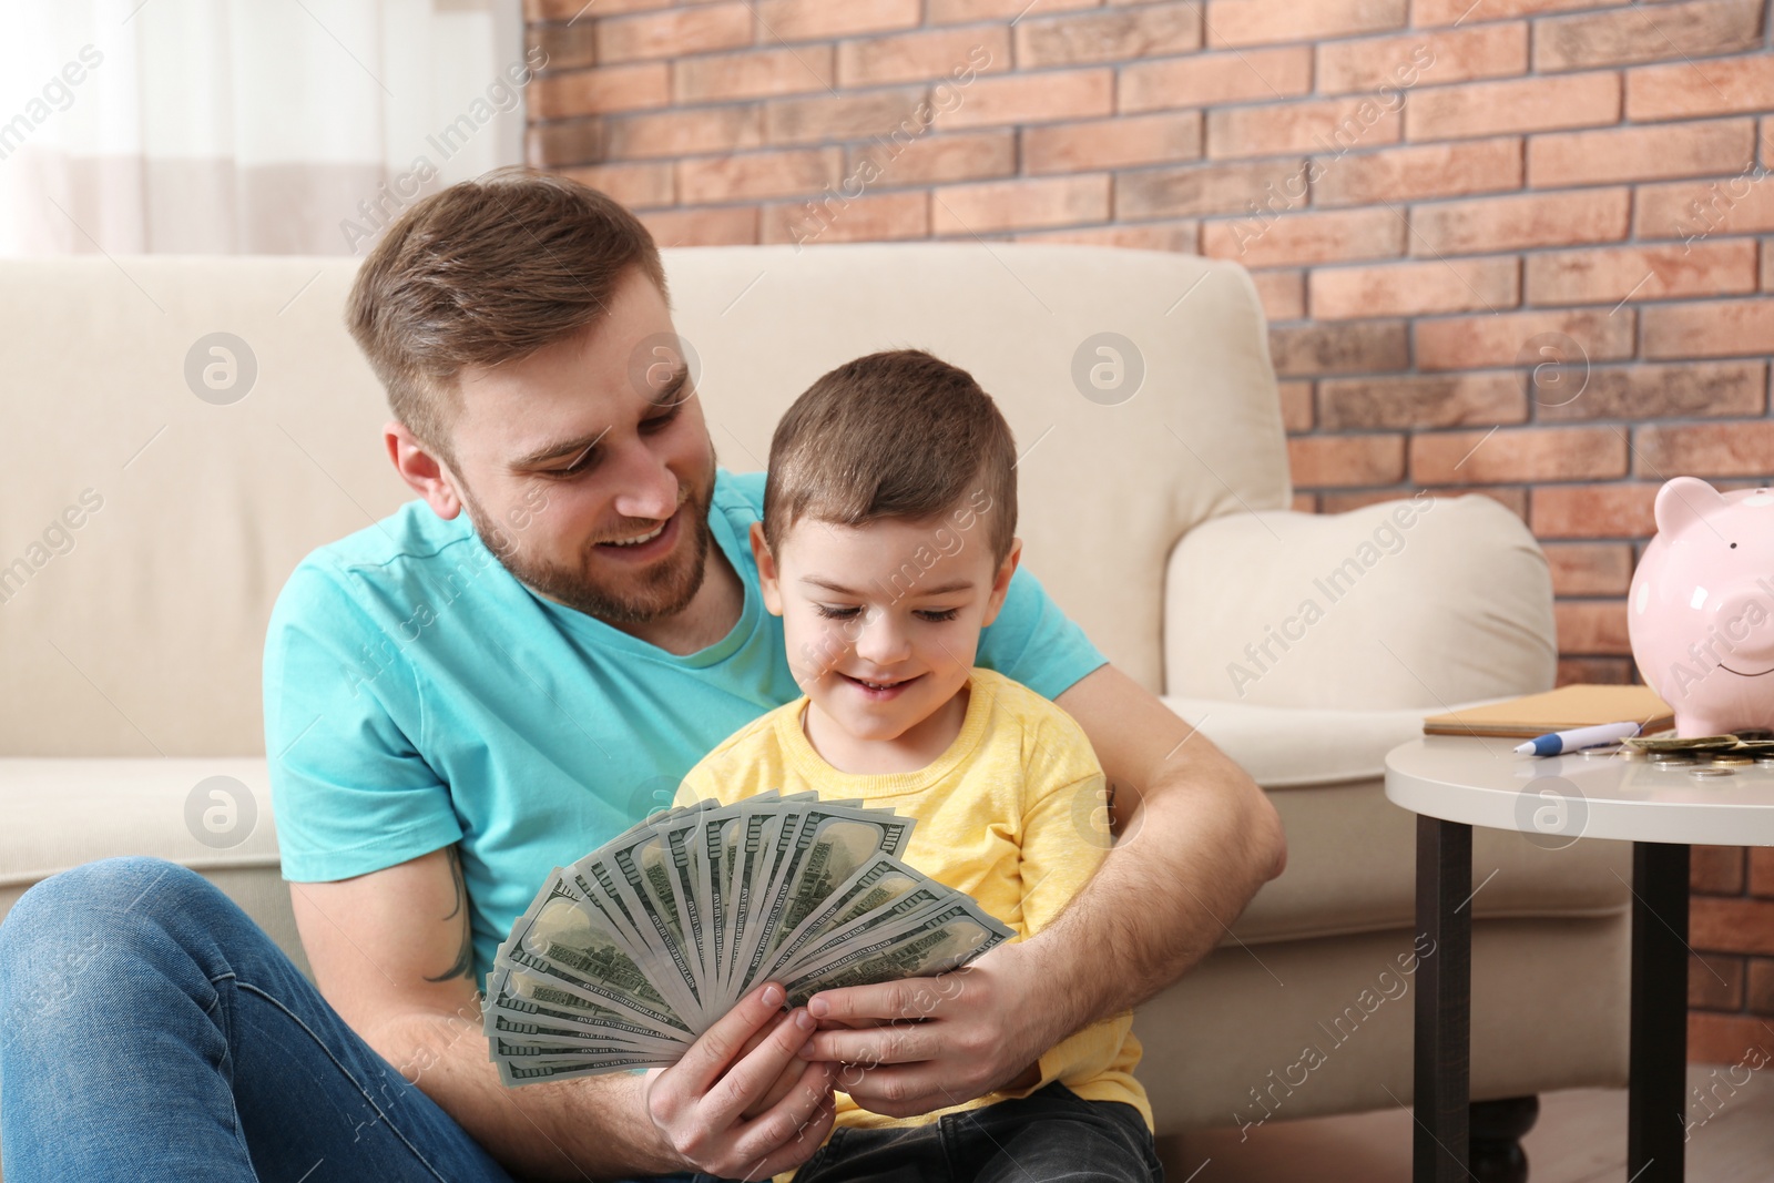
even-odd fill
[(401, 215), (351, 286), (346, 326), (394, 417), (449, 458), (456, 378), (566, 341), (605, 312), (628, 268), (660, 293), (653, 236), (578, 181), (500, 168)]

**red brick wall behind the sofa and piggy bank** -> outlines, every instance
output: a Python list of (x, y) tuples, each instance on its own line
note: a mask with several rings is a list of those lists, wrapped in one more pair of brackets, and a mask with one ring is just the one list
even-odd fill
[[(1552, 564), (1559, 681), (1636, 679), (1666, 477), (1774, 472), (1767, 0), (527, 2), (532, 163), (663, 245), (1238, 259), (1297, 507), (1497, 498)], [(1696, 851), (1740, 896), (1694, 913), (1726, 979), (1696, 961), (1696, 1054), (1731, 1061), (1710, 1011), (1774, 1013), (1746, 866)]]

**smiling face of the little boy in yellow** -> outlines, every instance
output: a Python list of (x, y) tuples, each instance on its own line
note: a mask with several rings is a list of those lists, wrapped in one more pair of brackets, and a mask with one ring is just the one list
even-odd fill
[(956, 529), (949, 516), (804, 518), (775, 555), (754, 523), (752, 553), (800, 688), (857, 740), (898, 740), (967, 683), (1022, 541), (993, 564), (983, 525)]

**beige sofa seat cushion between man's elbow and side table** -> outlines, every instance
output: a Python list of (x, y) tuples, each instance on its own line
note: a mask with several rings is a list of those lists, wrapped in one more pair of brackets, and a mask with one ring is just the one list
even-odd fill
[[(1501, 699), (1483, 699), (1495, 702)], [(1375, 933), (1416, 924), (1416, 814), (1385, 800), (1385, 754), (1432, 709), (1330, 711), (1164, 699), (1268, 791), (1288, 869), (1256, 894), (1226, 944)], [(1478, 706), (1455, 702), (1448, 709)], [(1595, 917), (1632, 890), (1629, 842), (1549, 850), (1524, 834), (1472, 834), (1472, 910), (1487, 919)]]

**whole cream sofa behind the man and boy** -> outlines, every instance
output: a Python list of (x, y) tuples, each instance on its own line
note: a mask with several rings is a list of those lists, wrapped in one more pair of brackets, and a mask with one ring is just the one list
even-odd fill
[[(1410, 1002), (1382, 974), (1412, 944), (1414, 825), (1382, 796), (1382, 757), (1425, 713), (1552, 685), (1550, 582), (1524, 525), (1485, 497), (1439, 497), (1393, 532), (1396, 502), (1291, 513), (1267, 328), (1229, 262), (967, 243), (687, 248), (667, 268), (733, 470), (763, 466), (777, 415), (839, 360), (922, 346), (972, 369), (1024, 450), (1027, 566), (1279, 807), (1286, 874), (1139, 1013), (1160, 1132), (1407, 1103)], [(302, 960), (264, 777), (264, 623), (303, 553), (406, 498), (341, 325), (351, 275), (300, 257), (0, 264), (0, 913), (57, 869), (154, 853)], [(215, 332), (255, 360), (232, 403), (188, 381)], [(1096, 333), (1137, 349), (1125, 401), (1089, 383), (1093, 364), (1114, 378), (1111, 355), (1080, 362)], [(99, 509), (64, 518), (83, 495)], [(1322, 617), (1288, 623), (1309, 598)], [(1245, 646), (1265, 640), (1258, 665)], [(188, 821), (209, 775), (257, 811), (225, 848)], [(1476, 835), (1474, 1098), (1625, 1082), (1629, 866), (1618, 844)], [(1323, 1062), (1300, 1082), (1307, 1045)]]

